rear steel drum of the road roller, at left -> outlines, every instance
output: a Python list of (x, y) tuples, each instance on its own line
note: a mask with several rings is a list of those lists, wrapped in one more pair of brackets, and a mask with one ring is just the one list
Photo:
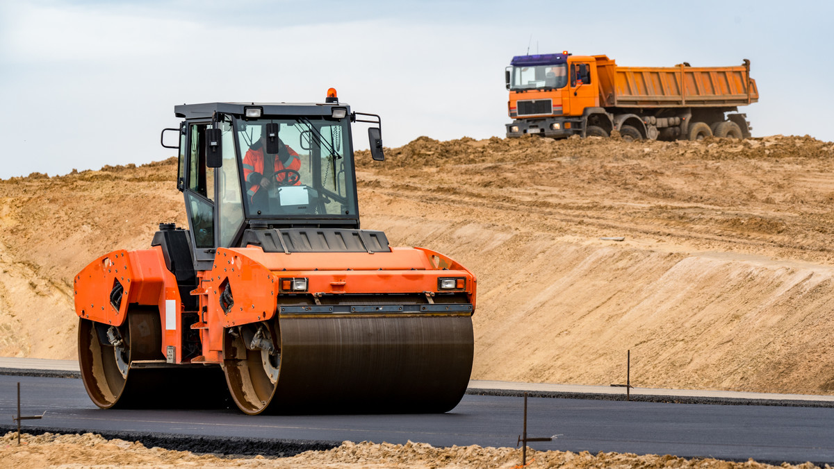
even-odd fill
[(153, 308), (133, 308), (121, 327), (80, 319), (78, 365), (93, 403), (103, 409), (228, 406), (219, 367), (131, 367), (140, 360), (164, 362), (161, 331)]

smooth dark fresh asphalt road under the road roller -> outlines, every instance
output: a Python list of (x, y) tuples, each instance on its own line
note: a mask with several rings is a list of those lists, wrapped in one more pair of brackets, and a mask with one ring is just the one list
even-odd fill
[[(23, 427), (68, 432), (515, 447), (524, 408), (520, 397), (466, 395), (452, 412), (440, 415), (253, 417), (236, 410), (101, 410), (90, 402), (81, 380), (0, 376), (0, 416), (8, 416), (9, 424), (17, 413), (17, 382), (23, 415), (46, 412), (43, 420), (24, 421)], [(558, 435), (552, 442), (531, 442), (537, 450), (834, 462), (834, 408), (530, 398), (527, 426), (529, 437)]]

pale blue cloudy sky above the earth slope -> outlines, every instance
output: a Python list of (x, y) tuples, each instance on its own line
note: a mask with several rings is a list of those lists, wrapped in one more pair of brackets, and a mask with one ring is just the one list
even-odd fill
[(380, 114), (388, 147), (503, 137), (504, 68), (528, 44), (625, 66), (749, 58), (753, 135), (831, 141), (832, 14), (832, 2), (0, 0), (0, 178), (158, 161), (173, 156), (158, 138), (174, 104), (314, 102), (328, 87)]

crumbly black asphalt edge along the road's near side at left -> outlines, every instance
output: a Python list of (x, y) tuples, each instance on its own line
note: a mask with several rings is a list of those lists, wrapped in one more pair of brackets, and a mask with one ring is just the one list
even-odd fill
[[(56, 427), (22, 427), (22, 433), (30, 435), (80, 435), (66, 428)], [(0, 424), (0, 432), (18, 432), (14, 425)], [(188, 451), (198, 454), (213, 454), (217, 457), (293, 457), (306, 451), (328, 451), (341, 446), (342, 442), (324, 440), (270, 440), (267, 438), (244, 437), (197, 437), (193, 435), (176, 435), (173, 433), (150, 432), (89, 432), (107, 440), (118, 438), (126, 442), (140, 442), (145, 447), (160, 447), (173, 451)]]

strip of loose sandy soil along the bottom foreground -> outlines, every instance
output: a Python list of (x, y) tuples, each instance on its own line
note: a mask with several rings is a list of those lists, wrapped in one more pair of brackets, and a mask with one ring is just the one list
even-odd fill
[[(0, 461), (8, 469), (44, 467), (84, 467), (97, 469), (123, 467), (274, 467), (359, 469), (363, 467), (396, 469), (441, 468), (515, 468), (520, 467), (521, 450), (495, 447), (432, 447), (425, 443), (408, 442), (404, 445), (370, 442), (344, 442), (329, 451), (303, 452), (294, 457), (218, 457), (192, 452), (169, 451), (144, 447), (139, 442), (105, 440), (103, 437), (83, 435), (54, 435), (38, 437), (22, 435), (23, 446), (17, 444), (17, 433), (9, 432), (0, 440)], [(811, 469), (811, 463), (771, 466), (749, 460), (726, 462), (716, 459), (684, 459), (674, 456), (637, 456), (625, 453), (590, 454), (589, 452), (537, 452), (527, 450), (526, 467), (565, 467), (576, 469), (631, 468), (647, 469), (670, 467), (698, 467), (703, 469), (758, 469), (784, 467)], [(826, 468), (828, 465), (826, 465)]]

